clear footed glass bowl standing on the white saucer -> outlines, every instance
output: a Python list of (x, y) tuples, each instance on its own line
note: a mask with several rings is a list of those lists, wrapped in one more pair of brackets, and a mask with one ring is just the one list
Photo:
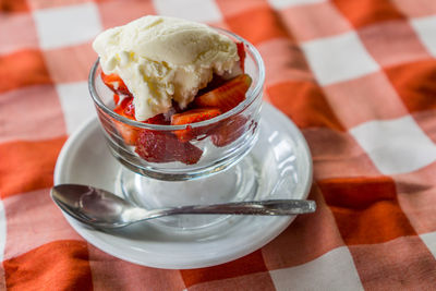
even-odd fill
[[(113, 111), (113, 92), (101, 80), (99, 60), (89, 73), (89, 92), (110, 151), (121, 167), (120, 192), (146, 208), (250, 199), (257, 189), (256, 162), (246, 155), (258, 136), (265, 68), (258, 51), (243, 38), (217, 31), (245, 49), (245, 73), (252, 83), (245, 99), (213, 119), (183, 125), (150, 124)], [(135, 142), (128, 142), (133, 133)], [(180, 134), (190, 140), (180, 142)], [(245, 158), (244, 158), (245, 157)], [(225, 216), (162, 218), (156, 223), (195, 229)]]

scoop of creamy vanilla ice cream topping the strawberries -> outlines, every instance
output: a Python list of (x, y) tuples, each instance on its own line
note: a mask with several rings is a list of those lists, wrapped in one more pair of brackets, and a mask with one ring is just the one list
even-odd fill
[(183, 109), (213, 77), (240, 70), (235, 44), (207, 25), (148, 15), (102, 32), (93, 43), (105, 74), (132, 93), (135, 118)]

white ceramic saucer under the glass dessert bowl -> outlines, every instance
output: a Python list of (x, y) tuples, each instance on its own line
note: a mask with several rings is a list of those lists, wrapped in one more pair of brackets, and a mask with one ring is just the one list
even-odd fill
[[(256, 198), (306, 198), (312, 184), (312, 159), (303, 135), (269, 104), (264, 104), (262, 112), (259, 140), (250, 155), (259, 163)], [(93, 119), (63, 146), (55, 184), (81, 183), (116, 192), (120, 167), (107, 148), (97, 119)], [(276, 238), (295, 218), (234, 216), (219, 226), (184, 233), (147, 222), (102, 232), (64, 216), (85, 240), (106, 253), (167, 269), (208, 267), (242, 257)]]

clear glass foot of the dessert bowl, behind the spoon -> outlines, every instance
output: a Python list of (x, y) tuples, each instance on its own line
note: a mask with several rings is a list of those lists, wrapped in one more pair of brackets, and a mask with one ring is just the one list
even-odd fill
[[(116, 187), (131, 203), (147, 209), (254, 199), (258, 191), (257, 162), (252, 155), (213, 175), (189, 181), (162, 181), (121, 167)], [(178, 215), (149, 220), (174, 230), (199, 230), (223, 222), (229, 215)]]

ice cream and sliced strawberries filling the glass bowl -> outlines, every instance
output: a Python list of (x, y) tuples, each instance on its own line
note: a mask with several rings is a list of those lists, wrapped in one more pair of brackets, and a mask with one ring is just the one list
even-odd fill
[(101, 80), (113, 92), (118, 114), (143, 123), (185, 125), (153, 131), (114, 121), (123, 142), (149, 162), (196, 163), (196, 143), (209, 137), (223, 147), (246, 131), (243, 116), (218, 124), (191, 126), (214, 119), (245, 99), (245, 51), (217, 31), (184, 20), (144, 16), (105, 31), (93, 44)]

